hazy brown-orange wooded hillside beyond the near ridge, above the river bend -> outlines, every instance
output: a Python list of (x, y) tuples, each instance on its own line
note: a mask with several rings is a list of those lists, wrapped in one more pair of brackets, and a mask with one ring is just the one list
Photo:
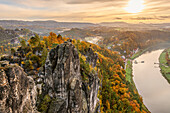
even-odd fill
[(95, 43), (99, 46), (118, 51), (126, 58), (130, 58), (137, 50), (170, 42), (168, 29), (128, 31), (114, 27), (91, 27), (71, 29), (62, 35), (89, 42), (95, 39)]

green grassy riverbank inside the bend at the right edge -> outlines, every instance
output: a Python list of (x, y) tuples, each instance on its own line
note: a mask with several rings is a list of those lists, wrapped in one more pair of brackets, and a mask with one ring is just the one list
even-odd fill
[(165, 49), (160, 57), (159, 57), (159, 67), (161, 69), (161, 73), (162, 75), (165, 77), (165, 79), (168, 81), (168, 83), (170, 84), (170, 66), (168, 65), (168, 61), (166, 59), (166, 53), (169, 53), (170, 55), (170, 48)]

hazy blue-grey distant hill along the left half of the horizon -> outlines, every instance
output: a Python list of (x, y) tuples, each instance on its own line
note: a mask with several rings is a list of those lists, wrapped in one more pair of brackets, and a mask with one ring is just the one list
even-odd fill
[[(80, 23), (80, 22), (57, 22), (57, 21), (18, 21), (18, 20), (0, 20), (0, 26), (4, 28), (16, 29), (27, 28), (33, 32), (41, 34), (49, 32), (63, 32), (66, 28), (83, 28), (88, 26), (96, 26), (92, 23)], [(65, 29), (64, 29), (65, 28)]]

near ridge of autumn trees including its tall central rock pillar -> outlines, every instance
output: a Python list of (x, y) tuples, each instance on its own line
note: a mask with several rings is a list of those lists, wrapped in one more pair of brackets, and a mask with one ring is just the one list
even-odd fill
[[(34, 79), (38, 111), (149, 112), (135, 86), (126, 80), (124, 62), (117, 52), (54, 33), (43, 41), (36, 36), (28, 42), (23, 41), (1, 60), (17, 63)], [(1, 64), (2, 71), (8, 68)]]

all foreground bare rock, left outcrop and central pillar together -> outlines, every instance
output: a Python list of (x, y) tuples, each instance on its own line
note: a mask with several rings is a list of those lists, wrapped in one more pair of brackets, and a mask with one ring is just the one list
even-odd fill
[[(79, 56), (85, 59), (83, 64)], [(98, 73), (85, 68), (96, 67), (98, 56), (92, 49), (80, 53), (71, 42), (60, 44), (48, 53), (38, 75), (26, 71), (27, 75), (27, 68), (13, 64), (22, 60), (13, 59), (7, 56), (1, 58), (7, 61), (0, 61), (0, 113), (99, 112)]]

